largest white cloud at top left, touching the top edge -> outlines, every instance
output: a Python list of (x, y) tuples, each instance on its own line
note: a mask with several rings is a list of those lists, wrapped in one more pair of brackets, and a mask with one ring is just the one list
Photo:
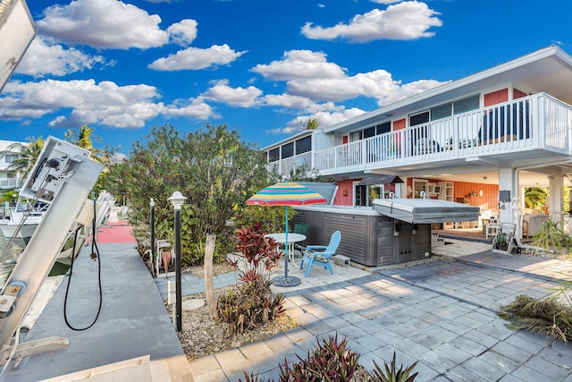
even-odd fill
[(169, 40), (161, 18), (119, 0), (74, 0), (44, 10), (40, 32), (69, 44), (97, 48), (161, 47)]

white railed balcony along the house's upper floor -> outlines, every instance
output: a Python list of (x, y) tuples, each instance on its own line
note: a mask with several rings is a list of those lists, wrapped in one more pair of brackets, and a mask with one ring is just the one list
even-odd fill
[[(461, 164), (468, 158), (521, 160), (539, 150), (543, 156), (564, 157), (572, 154), (571, 129), (572, 106), (539, 93), (315, 151), (311, 162), (310, 153), (305, 153), (304, 160), (320, 174), (332, 175), (447, 161)], [(289, 174), (299, 157), (269, 165)]]

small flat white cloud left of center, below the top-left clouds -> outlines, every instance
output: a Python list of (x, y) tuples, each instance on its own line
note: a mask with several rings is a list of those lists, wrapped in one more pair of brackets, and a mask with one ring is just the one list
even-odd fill
[(207, 49), (188, 47), (174, 55), (159, 58), (152, 64), (149, 64), (148, 67), (156, 71), (205, 69), (213, 65), (230, 64), (245, 53), (247, 53), (246, 50), (235, 52), (226, 44), (222, 46), (214, 45)]

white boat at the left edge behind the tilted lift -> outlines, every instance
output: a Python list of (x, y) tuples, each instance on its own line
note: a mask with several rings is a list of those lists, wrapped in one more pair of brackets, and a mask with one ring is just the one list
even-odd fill
[(4, 208), (2, 208), (0, 212), (0, 231), (7, 238), (15, 235), (15, 237), (29, 240), (42, 221), (47, 206), (43, 202), (37, 202), (32, 205), (29, 201), (21, 199), (19, 196), (15, 204), (10, 205), (6, 203)]

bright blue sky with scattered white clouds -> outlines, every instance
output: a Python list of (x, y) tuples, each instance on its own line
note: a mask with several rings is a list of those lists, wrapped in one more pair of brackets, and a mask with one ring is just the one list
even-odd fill
[(0, 95), (1, 140), (82, 124), (129, 154), (155, 125), (225, 123), (265, 147), (557, 44), (572, 2), (29, 1), (38, 25)]

